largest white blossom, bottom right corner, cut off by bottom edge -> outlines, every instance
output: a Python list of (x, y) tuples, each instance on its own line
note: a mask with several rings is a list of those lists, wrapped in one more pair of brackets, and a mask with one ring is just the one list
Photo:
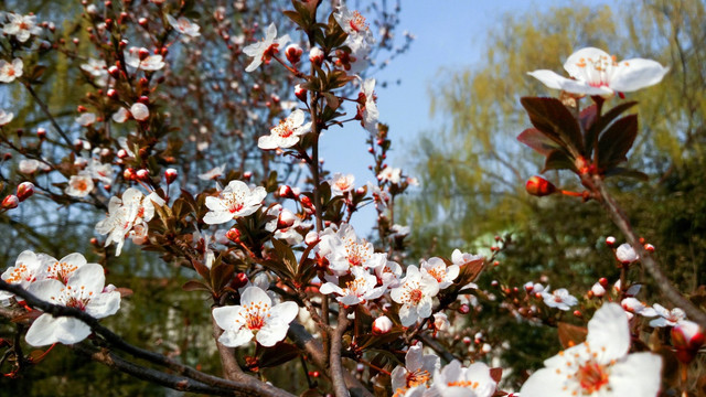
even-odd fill
[(588, 322), (585, 343), (544, 362), (522, 386), (523, 397), (656, 396), (662, 361), (652, 353), (628, 354), (630, 329), (624, 311), (603, 304)]

